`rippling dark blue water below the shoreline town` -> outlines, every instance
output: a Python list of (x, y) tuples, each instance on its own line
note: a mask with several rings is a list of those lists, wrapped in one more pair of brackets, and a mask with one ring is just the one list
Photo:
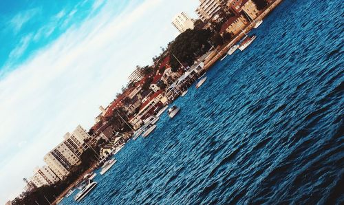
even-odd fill
[(281, 3), (80, 204), (343, 204), (343, 11)]

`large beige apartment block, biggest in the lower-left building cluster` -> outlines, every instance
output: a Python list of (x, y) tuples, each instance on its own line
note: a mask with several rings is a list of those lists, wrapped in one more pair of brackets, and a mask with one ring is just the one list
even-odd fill
[(66, 133), (64, 138), (63, 142), (44, 157), (44, 162), (60, 179), (69, 174), (72, 166), (80, 164), (80, 155), (87, 149), (85, 139), (90, 136), (78, 125), (73, 133)]

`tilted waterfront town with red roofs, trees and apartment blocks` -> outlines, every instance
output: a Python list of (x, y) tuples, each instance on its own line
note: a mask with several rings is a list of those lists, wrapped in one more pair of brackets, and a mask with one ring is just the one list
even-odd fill
[(173, 118), (182, 112), (174, 100), (187, 95), (188, 89), (202, 91), (214, 63), (248, 50), (259, 38), (248, 32), (259, 28), (279, 3), (200, 0), (195, 10), (199, 19), (185, 12), (176, 14), (171, 26), (180, 34), (175, 40), (153, 57), (151, 65), (136, 66), (116, 98), (99, 107), (92, 127), (75, 125), (65, 133), (62, 142), (43, 156), (45, 165), (23, 179), (21, 195), (7, 204), (58, 204), (74, 191), (76, 202), (87, 197), (96, 187), (95, 171), (103, 175), (116, 166), (114, 155), (129, 140), (149, 137), (162, 115)]

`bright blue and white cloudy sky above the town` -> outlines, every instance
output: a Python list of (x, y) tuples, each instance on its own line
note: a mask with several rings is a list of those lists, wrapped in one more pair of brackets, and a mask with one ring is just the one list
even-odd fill
[(65, 133), (94, 125), (136, 65), (178, 35), (175, 14), (196, 18), (198, 4), (0, 1), (0, 204), (21, 193)]

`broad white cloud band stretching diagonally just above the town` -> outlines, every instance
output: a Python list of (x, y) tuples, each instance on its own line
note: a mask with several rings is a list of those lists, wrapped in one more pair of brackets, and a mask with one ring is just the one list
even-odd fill
[(17, 193), (65, 132), (93, 125), (99, 105), (111, 102), (133, 68), (172, 39), (171, 17), (184, 6), (182, 0), (147, 0), (114, 17), (107, 2), (0, 80), (0, 182), (13, 182), (0, 188), (0, 199)]

